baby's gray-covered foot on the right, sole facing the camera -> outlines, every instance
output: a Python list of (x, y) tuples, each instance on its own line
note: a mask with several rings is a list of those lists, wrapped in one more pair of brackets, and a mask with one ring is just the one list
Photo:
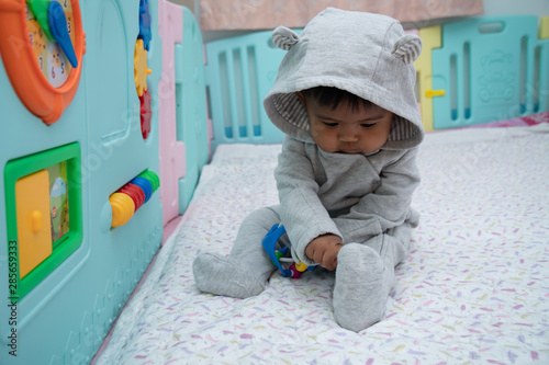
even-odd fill
[(359, 332), (383, 318), (394, 278), (391, 269), (367, 246), (348, 243), (339, 250), (334, 287), (339, 326)]

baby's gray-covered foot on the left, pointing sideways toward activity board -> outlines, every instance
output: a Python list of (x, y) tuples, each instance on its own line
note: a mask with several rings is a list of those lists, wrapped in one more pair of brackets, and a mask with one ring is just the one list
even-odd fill
[(194, 281), (202, 292), (233, 298), (247, 298), (265, 289), (264, 275), (246, 271), (219, 253), (201, 253), (192, 263)]

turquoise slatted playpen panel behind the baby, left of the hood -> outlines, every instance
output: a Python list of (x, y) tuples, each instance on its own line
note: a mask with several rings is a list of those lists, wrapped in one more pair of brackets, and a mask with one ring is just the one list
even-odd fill
[(271, 33), (257, 32), (206, 44), (212, 148), (231, 142), (282, 142), (282, 132), (264, 110), (264, 98), (285, 55), (272, 44)]

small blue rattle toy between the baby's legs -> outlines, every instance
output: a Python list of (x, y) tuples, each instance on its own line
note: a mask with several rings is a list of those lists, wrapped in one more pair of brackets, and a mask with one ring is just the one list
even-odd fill
[[(264, 246), (265, 251), (271, 259), (274, 266), (280, 270), (280, 273), (284, 277), (299, 278), (301, 273), (305, 270), (314, 271), (316, 266), (307, 266), (303, 262), (295, 263), (292, 258), (284, 258), (288, 252), (288, 249), (291, 247), (291, 243), (284, 246), (281, 250), (276, 250), (277, 242), (285, 233), (284, 226), (280, 224), (276, 224), (269, 229), (267, 235), (265, 235), (261, 240), (261, 244)], [(282, 267), (282, 262), (291, 262), (289, 269)]]

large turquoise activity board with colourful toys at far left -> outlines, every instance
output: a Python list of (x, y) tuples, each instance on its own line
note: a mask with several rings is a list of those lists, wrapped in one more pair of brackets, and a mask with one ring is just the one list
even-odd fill
[(0, 364), (87, 364), (156, 253), (157, 0), (0, 1)]

